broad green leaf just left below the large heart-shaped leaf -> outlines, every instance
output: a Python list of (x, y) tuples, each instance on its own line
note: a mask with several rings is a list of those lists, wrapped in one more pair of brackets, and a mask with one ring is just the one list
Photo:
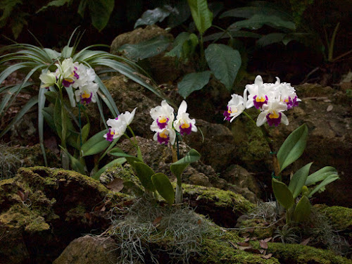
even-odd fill
[(186, 99), (189, 94), (202, 89), (209, 82), (211, 72), (209, 70), (201, 73), (189, 73), (184, 75), (181, 82), (177, 84), (178, 93)]

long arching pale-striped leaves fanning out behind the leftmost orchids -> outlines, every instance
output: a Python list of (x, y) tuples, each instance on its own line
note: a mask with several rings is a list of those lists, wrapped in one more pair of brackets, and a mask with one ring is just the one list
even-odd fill
[[(13, 120), (0, 132), (0, 137), (4, 136), (11, 126), (18, 122), (20, 118), (27, 113), (32, 107), (38, 106), (38, 130), (39, 130), (39, 142), (42, 146), (44, 153), (44, 107), (46, 104), (47, 96), (45, 95), (47, 90), (40, 88), (37, 89), (34, 84), (38, 84), (39, 87), (39, 74), (42, 71), (55, 71), (56, 65), (59, 61), (63, 61), (65, 58), (73, 58), (73, 61), (77, 63), (82, 63), (88, 68), (96, 69), (96, 84), (99, 85), (99, 91), (97, 92), (98, 98), (96, 103), (98, 105), (99, 111), (103, 122), (105, 123), (105, 118), (103, 118), (103, 103), (106, 104), (111, 114), (117, 117), (119, 114), (118, 107), (113, 101), (111, 94), (105, 87), (101, 80), (101, 75), (106, 73), (118, 72), (126, 77), (130, 78), (134, 82), (141, 84), (147, 89), (151, 90), (154, 94), (163, 98), (163, 95), (158, 92), (156, 86), (153, 86), (153, 82), (146, 82), (146, 78), (143, 74), (145, 73), (142, 68), (139, 68), (133, 61), (123, 58), (121, 56), (116, 56), (109, 54), (107, 51), (97, 51), (92, 50), (97, 47), (108, 47), (107, 45), (92, 45), (77, 52), (77, 46), (82, 38), (82, 34), (77, 32), (77, 29), (71, 35), (68, 44), (62, 49), (61, 52), (55, 51), (53, 49), (46, 49), (43, 47), (33, 46), (30, 44), (12, 44), (5, 46), (0, 49), (0, 54), (5, 54), (0, 56), (0, 85), (6, 80), (6, 78), (15, 73), (16, 71), (21, 71), (25, 73), (25, 77), (20, 84), (14, 84), (9, 86), (0, 86), (0, 94), (3, 94), (0, 101), (0, 118), (2, 118), (8, 108), (13, 105), (16, 97), (20, 93), (27, 93), (31, 95), (31, 99), (27, 101), (25, 106), (18, 112)], [(73, 37), (76, 35), (75, 42), (71, 45)], [(14, 64), (13, 64), (14, 63)], [(99, 70), (98, 70), (99, 69)], [(100, 76), (100, 77), (99, 77)], [(64, 102), (65, 103), (65, 102)], [(75, 123), (77, 120), (75, 115), (70, 111), (69, 106), (63, 105), (66, 111)], [(44, 157), (45, 158), (45, 157)], [(45, 161), (46, 162), (46, 161)]]

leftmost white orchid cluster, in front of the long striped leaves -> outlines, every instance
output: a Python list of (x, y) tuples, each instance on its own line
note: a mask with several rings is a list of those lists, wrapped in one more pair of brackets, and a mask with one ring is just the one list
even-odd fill
[(49, 89), (54, 85), (58, 87), (62, 85), (71, 92), (73, 88), (76, 89), (74, 95), (73, 92), (68, 92), (69, 96), (70, 94), (75, 96), (75, 99), (70, 100), (73, 107), (75, 107), (75, 101), (82, 104), (96, 102), (96, 92), (99, 86), (94, 82), (96, 75), (92, 68), (87, 68), (82, 63), (73, 63), (72, 58), (65, 58), (62, 63), (58, 61), (55, 65), (57, 67), (55, 73), (46, 70), (39, 76), (42, 81), (41, 88)]

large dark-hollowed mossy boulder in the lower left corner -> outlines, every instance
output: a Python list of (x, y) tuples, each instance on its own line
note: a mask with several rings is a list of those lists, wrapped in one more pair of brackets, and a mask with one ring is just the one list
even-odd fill
[[(108, 226), (102, 184), (70, 170), (20, 168), (0, 181), (0, 256), (5, 263), (52, 263), (70, 241)], [(123, 196), (115, 196), (123, 201)]]

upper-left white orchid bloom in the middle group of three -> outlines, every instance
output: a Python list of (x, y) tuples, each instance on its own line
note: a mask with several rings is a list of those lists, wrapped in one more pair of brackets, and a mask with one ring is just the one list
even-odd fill
[(171, 128), (174, 120), (174, 108), (172, 108), (167, 101), (163, 100), (161, 106), (151, 108), (151, 118), (153, 123), (151, 124), (151, 131), (161, 131), (166, 127)]

